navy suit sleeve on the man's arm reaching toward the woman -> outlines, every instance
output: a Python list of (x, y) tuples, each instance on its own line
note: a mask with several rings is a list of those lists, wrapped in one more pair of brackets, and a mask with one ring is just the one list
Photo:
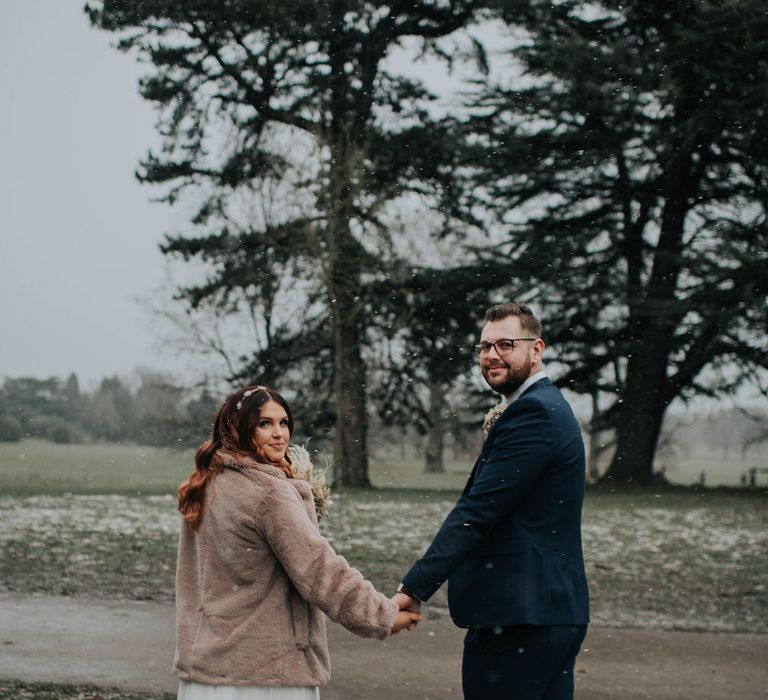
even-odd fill
[[(516, 410), (515, 410), (516, 409)], [(541, 477), (555, 454), (552, 419), (538, 401), (520, 400), (499, 425), (487, 460), (446, 517), (432, 543), (403, 578), (429, 600), (453, 571), (481, 547)]]

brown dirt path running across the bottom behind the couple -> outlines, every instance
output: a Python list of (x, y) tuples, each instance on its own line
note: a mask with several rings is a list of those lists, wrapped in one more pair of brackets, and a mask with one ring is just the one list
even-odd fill
[[(444, 617), (377, 642), (329, 625), (323, 700), (460, 700), (463, 632)], [(174, 692), (173, 608), (0, 595), (0, 677)], [(593, 627), (578, 700), (766, 700), (768, 636)]]

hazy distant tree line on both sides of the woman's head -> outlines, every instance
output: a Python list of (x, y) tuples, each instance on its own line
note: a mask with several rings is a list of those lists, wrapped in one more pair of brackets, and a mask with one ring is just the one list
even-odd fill
[[(67, 379), (8, 377), (0, 384), (0, 442), (36, 438), (59, 444), (119, 442), (161, 447), (196, 447), (211, 427), (221, 396), (208, 388), (189, 388), (161, 372), (140, 371), (129, 379), (105, 377), (98, 388), (80, 388), (73, 373)], [(313, 406), (292, 403), (299, 442), (311, 441), (327, 452), (332, 440), (317, 429)], [(444, 406), (444, 447), (454, 459), (469, 462), (480, 436), (477, 407)], [(434, 437), (426, 419), (412, 422), (372, 417), (371, 430), (379, 457), (414, 458), (429, 454)], [(441, 469), (442, 469), (441, 449)]]

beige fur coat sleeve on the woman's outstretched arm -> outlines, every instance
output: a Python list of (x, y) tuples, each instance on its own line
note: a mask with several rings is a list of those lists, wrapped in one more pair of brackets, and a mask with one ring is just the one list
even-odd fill
[(259, 529), (299, 594), (350, 632), (384, 639), (397, 605), (334, 551), (298, 494), (275, 488), (262, 508)]

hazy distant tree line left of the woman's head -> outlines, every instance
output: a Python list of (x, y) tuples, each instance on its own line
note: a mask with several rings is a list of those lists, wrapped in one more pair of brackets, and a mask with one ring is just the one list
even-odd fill
[(216, 408), (208, 390), (190, 390), (160, 373), (139, 373), (135, 387), (106, 377), (90, 393), (75, 374), (65, 380), (9, 377), (0, 387), (0, 442), (190, 447), (203, 441)]

